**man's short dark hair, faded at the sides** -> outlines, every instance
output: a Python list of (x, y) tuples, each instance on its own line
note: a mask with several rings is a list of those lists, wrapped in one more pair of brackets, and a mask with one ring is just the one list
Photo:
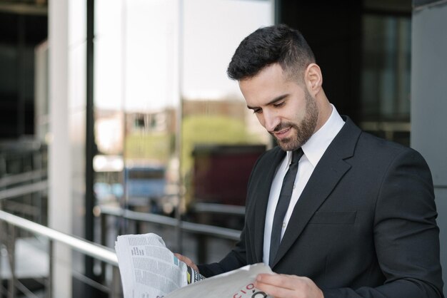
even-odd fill
[(227, 74), (240, 81), (279, 63), (288, 76), (301, 80), (304, 69), (314, 62), (315, 56), (301, 32), (280, 24), (257, 29), (244, 38), (231, 58)]

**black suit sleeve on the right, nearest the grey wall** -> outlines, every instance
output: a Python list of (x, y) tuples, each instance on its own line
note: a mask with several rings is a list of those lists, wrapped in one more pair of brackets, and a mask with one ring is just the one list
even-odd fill
[(374, 242), (386, 281), (374, 288), (323, 289), (324, 297), (443, 297), (436, 217), (428, 165), (406, 148), (389, 165), (376, 200)]

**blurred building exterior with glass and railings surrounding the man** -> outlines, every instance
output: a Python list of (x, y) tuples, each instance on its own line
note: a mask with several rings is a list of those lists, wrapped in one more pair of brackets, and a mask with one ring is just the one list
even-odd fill
[(117, 235), (224, 257), (274, 145), (226, 67), (279, 23), (339, 113), (426, 158), (446, 267), (446, 2), (0, 0), (0, 297), (122, 297)]

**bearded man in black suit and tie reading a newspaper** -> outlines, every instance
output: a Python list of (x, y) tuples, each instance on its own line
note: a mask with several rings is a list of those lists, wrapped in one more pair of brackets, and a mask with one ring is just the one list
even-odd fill
[[(421, 155), (341, 117), (311, 48), (287, 26), (247, 36), (228, 76), (278, 147), (253, 167), (241, 240), (199, 271), (270, 264), (276, 274), (259, 274), (255, 286), (273, 297), (443, 297), (433, 183)], [(291, 199), (278, 216), (294, 163)]]

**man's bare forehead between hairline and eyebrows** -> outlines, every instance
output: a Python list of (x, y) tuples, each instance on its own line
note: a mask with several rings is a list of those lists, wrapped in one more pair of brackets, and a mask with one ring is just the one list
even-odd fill
[(292, 81), (278, 63), (263, 68), (256, 76), (239, 81), (248, 106), (263, 106), (283, 95), (303, 94), (301, 84)]

